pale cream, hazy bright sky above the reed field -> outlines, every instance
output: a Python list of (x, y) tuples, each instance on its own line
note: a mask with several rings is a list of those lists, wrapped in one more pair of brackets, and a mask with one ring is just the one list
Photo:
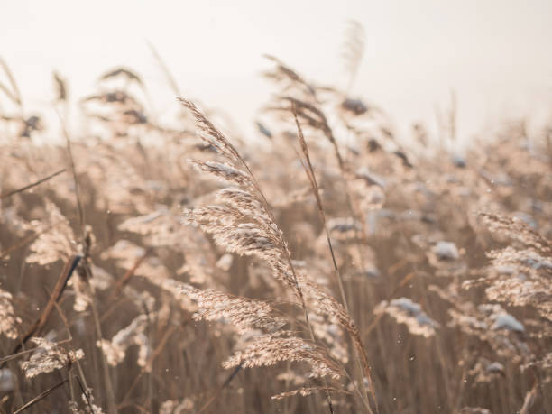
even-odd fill
[(245, 124), (271, 91), (259, 76), (263, 53), (306, 78), (343, 85), (349, 19), (366, 31), (353, 92), (402, 127), (435, 124), (434, 107), (448, 105), (451, 88), (465, 135), (503, 116), (552, 112), (549, 0), (4, 0), (0, 55), (27, 106), (47, 105), (52, 69), (82, 97), (106, 69), (124, 65), (143, 76), (162, 110), (173, 101), (151, 41), (187, 97)]

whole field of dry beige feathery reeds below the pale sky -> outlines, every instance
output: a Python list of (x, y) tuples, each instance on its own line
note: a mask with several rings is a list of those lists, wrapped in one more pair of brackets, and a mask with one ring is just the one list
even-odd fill
[(551, 412), (549, 129), (460, 157), (269, 59), (258, 142), (117, 68), (61, 146), (2, 63), (0, 410)]

